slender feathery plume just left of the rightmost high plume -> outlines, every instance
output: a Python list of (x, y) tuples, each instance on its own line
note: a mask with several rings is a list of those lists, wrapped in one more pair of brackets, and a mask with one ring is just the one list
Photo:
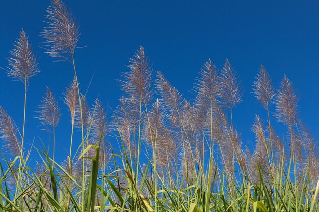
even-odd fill
[(263, 65), (261, 65), (255, 78), (256, 81), (254, 81), (253, 85), (255, 97), (268, 109), (271, 100), (275, 96), (275, 92), (271, 78)]

